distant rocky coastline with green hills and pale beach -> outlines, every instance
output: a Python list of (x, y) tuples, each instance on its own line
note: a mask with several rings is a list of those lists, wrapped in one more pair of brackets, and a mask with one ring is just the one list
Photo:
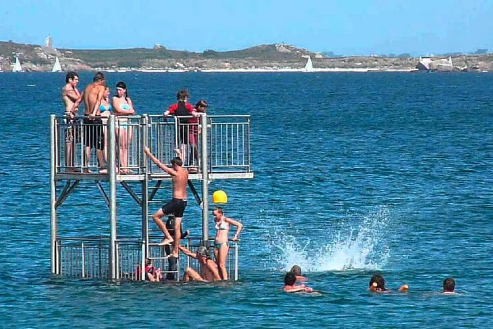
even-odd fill
[[(286, 44), (259, 45), (242, 50), (202, 53), (169, 50), (161, 45), (133, 49), (62, 49), (0, 41), (0, 71), (9, 72), (18, 57), (26, 72), (51, 72), (56, 57), (63, 71), (105, 72), (415, 72), (416, 57), (346, 56), (321, 53)], [(493, 54), (452, 56), (448, 71), (493, 72)]]

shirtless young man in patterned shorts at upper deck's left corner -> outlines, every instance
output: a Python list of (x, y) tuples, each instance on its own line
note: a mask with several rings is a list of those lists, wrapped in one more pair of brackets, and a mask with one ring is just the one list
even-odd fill
[(62, 88), (62, 102), (65, 106), (65, 116), (67, 117), (67, 127), (65, 130), (65, 166), (66, 171), (72, 173), (75, 171), (73, 168), (73, 158), (75, 157), (75, 143), (80, 139), (80, 127), (76, 126), (73, 121), (73, 117), (77, 114), (77, 107), (74, 107), (74, 103), (80, 97), (80, 93), (77, 90), (77, 84), (79, 83), (79, 76), (77, 73), (70, 71), (65, 76), (65, 86)]

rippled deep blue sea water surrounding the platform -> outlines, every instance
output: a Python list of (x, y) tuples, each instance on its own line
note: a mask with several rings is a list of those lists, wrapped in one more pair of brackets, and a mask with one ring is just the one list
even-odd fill
[[(213, 114), (252, 115), (255, 179), (216, 181), (245, 224), (241, 281), (109, 284), (49, 269), (48, 115), (64, 74), (0, 74), (0, 327), (493, 325), (493, 74), (110, 73), (139, 113), (186, 87)], [(81, 74), (81, 88), (91, 74)], [(120, 187), (121, 188), (121, 187)], [(119, 233), (139, 208), (119, 199)], [(93, 205), (92, 205), (93, 204)], [(200, 234), (195, 205), (185, 226)], [(60, 234), (107, 234), (90, 183)], [(281, 291), (298, 263), (320, 296)], [(407, 294), (373, 295), (380, 273)], [(456, 296), (442, 281), (456, 278)]]

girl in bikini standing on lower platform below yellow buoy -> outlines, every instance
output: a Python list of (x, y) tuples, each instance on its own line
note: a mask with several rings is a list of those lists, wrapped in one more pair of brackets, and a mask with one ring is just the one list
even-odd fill
[(236, 226), (236, 233), (233, 241), (238, 241), (243, 225), (239, 221), (227, 218), (224, 216), (224, 211), (221, 207), (217, 207), (213, 211), (214, 223), (216, 229), (216, 237), (214, 240), (214, 256), (219, 267), (219, 275), (223, 280), (228, 280), (228, 271), (226, 270), (226, 258), (228, 257), (229, 245), (228, 234), (229, 226)]

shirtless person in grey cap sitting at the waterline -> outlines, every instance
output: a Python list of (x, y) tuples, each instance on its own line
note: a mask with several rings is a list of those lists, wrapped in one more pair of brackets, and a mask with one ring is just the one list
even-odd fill
[(219, 271), (217, 270), (217, 264), (211, 259), (211, 256), (209, 256), (209, 251), (206, 247), (200, 246), (195, 253), (192, 253), (183, 246), (179, 246), (179, 249), (186, 256), (197, 259), (200, 266), (200, 274), (191, 267), (185, 268), (185, 281), (221, 281)]

